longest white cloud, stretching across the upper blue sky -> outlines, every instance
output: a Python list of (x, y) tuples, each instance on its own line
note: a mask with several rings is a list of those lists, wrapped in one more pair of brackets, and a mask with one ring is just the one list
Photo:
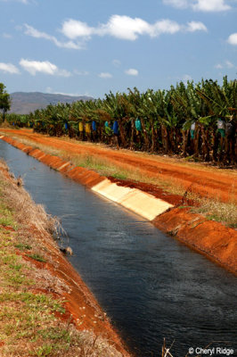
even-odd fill
[[(0, 0), (1, 1), (1, 0)], [(18, 27), (18, 30), (22, 28)], [(92, 36), (111, 36), (119, 39), (135, 41), (139, 36), (159, 37), (161, 34), (175, 34), (176, 32), (194, 32), (207, 31), (206, 26), (200, 21), (191, 21), (187, 25), (182, 25), (176, 21), (163, 19), (154, 23), (149, 23), (140, 18), (131, 18), (129, 16), (112, 15), (109, 21), (105, 24), (100, 24), (98, 27), (90, 27), (86, 22), (69, 19), (64, 21), (61, 27), (61, 33), (68, 37), (68, 41), (60, 41), (56, 37), (49, 35), (43, 31), (24, 25), (25, 35), (44, 38), (53, 42), (55, 46), (69, 49), (84, 49), (85, 43)], [(119, 66), (118, 60), (113, 64)]]

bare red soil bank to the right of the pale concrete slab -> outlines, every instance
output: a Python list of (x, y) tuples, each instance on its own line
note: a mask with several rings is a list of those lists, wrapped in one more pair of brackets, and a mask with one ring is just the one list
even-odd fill
[(206, 220), (188, 208), (174, 208), (153, 220), (160, 230), (237, 274), (237, 231)]

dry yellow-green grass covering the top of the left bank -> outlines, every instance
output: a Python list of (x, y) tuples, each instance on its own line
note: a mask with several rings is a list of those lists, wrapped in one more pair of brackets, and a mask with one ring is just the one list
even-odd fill
[(70, 320), (63, 322), (57, 317), (65, 312), (61, 294), (69, 292), (69, 286), (21, 256), (51, 261), (58, 248), (53, 239), (45, 237), (55, 221), (17, 187), (16, 180), (4, 177), (4, 169), (0, 162), (1, 357), (121, 357), (102, 337), (78, 331)]

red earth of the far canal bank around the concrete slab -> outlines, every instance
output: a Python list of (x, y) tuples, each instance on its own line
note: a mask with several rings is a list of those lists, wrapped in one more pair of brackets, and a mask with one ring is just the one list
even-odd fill
[[(38, 149), (33, 149), (31, 146), (23, 145), (10, 137), (2, 137), (2, 139), (37, 158), (40, 162), (44, 162), (54, 170), (59, 170), (70, 179), (86, 185), (86, 187), (92, 188), (105, 179), (93, 170), (76, 167), (70, 162), (61, 160), (58, 156), (45, 154)], [(190, 208), (185, 208), (185, 205), (192, 204), (192, 202), (187, 201), (185, 197), (168, 195), (158, 187), (152, 185), (109, 179), (118, 186), (138, 188), (162, 201), (173, 204), (175, 206), (173, 209), (160, 214), (152, 220), (156, 227), (176, 237), (199, 253), (206, 255), (208, 259), (221, 264), (233, 273), (237, 273), (236, 230), (227, 228), (221, 223), (206, 220), (203, 216), (190, 212)], [(183, 204), (184, 208), (180, 208), (180, 205)]]

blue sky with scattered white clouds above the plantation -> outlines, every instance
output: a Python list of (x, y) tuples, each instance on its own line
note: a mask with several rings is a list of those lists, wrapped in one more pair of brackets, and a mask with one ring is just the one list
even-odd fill
[(102, 98), (236, 72), (237, 0), (0, 0), (8, 93)]

